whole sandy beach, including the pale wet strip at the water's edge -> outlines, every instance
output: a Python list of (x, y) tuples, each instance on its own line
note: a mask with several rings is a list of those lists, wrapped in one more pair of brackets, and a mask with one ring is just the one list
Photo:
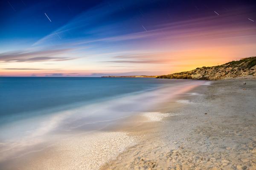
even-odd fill
[[(157, 105), (144, 105), (148, 109), (100, 130), (62, 125), (47, 142), (0, 165), (6, 170), (255, 170), (256, 80), (190, 83), (122, 99)], [(113, 110), (110, 103), (106, 110)]]

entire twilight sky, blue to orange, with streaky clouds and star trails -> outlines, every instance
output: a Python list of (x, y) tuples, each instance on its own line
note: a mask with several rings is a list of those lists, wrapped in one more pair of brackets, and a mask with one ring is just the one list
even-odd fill
[(252, 56), (255, 0), (0, 1), (0, 76), (162, 75)]

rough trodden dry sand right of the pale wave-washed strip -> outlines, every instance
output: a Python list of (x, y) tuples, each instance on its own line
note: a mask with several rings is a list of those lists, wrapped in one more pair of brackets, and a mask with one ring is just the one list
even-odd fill
[(256, 170), (256, 80), (213, 81), (177, 101), (124, 124), (140, 142), (102, 170)]

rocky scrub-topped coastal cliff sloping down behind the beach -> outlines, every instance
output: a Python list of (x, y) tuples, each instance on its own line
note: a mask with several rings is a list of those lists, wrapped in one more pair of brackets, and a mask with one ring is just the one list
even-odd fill
[(227, 62), (223, 65), (201, 67), (191, 71), (157, 76), (161, 79), (205, 79), (217, 80), (234, 77), (256, 76), (256, 57), (248, 57), (239, 61)]

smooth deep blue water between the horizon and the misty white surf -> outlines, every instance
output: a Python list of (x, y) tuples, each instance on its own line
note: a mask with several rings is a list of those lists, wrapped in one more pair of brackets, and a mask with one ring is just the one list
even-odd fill
[(0, 125), (172, 83), (154, 78), (0, 77)]

